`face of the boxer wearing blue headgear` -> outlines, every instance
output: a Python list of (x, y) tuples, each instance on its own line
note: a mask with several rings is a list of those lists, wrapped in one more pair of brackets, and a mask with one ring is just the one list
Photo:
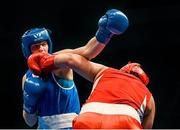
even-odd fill
[(48, 52), (47, 41), (42, 41), (40, 43), (31, 46), (31, 53), (37, 53), (37, 52)]

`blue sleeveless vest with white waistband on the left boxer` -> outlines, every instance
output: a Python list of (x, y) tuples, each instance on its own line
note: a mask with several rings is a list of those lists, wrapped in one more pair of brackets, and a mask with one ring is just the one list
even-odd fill
[[(26, 77), (30, 76), (32, 77), (32, 72), (29, 70)], [(66, 118), (67, 122), (68, 118), (73, 119), (80, 112), (79, 96), (74, 81), (57, 79), (52, 73), (45, 82), (45, 92), (37, 104), (39, 128), (71, 127), (72, 122), (69, 122), (70, 126), (62, 123), (66, 122)], [(60, 119), (61, 121), (56, 121)], [(56, 123), (52, 124), (53, 121)]]

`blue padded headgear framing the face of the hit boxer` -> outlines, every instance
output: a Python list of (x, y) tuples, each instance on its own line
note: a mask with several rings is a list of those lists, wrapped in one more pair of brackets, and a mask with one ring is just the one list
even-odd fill
[(52, 53), (52, 42), (49, 36), (49, 31), (46, 28), (33, 28), (27, 30), (22, 36), (22, 51), (24, 57), (28, 58), (31, 54), (31, 45), (42, 41), (47, 41), (49, 45), (48, 52)]

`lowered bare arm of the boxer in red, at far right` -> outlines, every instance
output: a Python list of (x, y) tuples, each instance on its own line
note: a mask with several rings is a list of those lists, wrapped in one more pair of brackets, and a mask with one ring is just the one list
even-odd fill
[(151, 96), (148, 106), (149, 107), (145, 111), (145, 116), (142, 122), (142, 127), (144, 129), (151, 129), (153, 127), (155, 117), (155, 102), (153, 96)]

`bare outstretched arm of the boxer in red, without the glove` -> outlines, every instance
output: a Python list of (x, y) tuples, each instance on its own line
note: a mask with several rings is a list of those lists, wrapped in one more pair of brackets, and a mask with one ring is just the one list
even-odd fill
[(54, 66), (61, 68), (68, 66), (80, 76), (91, 82), (94, 81), (96, 75), (100, 71), (107, 68), (101, 64), (93, 63), (80, 55), (72, 53), (56, 55), (54, 57)]

